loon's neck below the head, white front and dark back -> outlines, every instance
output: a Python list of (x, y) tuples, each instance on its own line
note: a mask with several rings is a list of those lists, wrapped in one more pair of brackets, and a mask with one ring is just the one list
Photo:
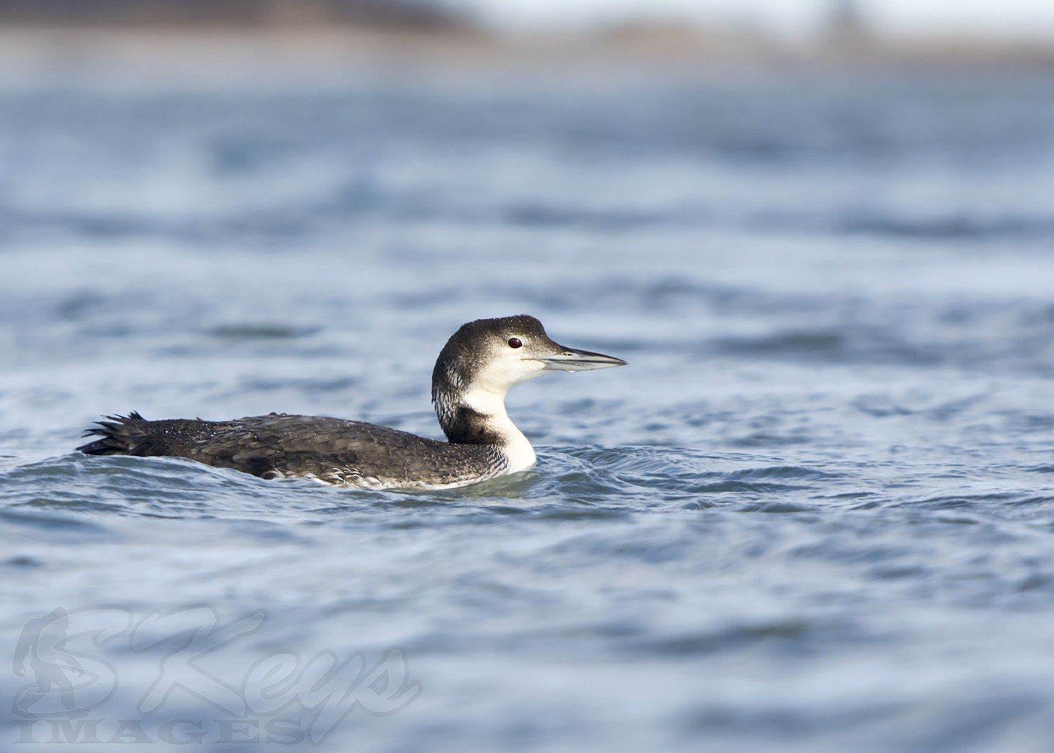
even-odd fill
[(443, 433), (454, 444), (490, 444), (501, 448), (509, 473), (534, 464), (534, 450), (505, 412), (505, 391), (470, 388), (460, 393), (438, 392), (435, 414)]

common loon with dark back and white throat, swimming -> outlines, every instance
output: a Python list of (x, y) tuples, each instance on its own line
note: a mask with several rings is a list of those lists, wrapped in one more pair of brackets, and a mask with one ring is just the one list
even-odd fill
[(165, 455), (261, 478), (313, 478), (364, 489), (448, 489), (534, 465), (534, 450), (505, 412), (505, 393), (544, 371), (621, 366), (620, 358), (559, 345), (532, 316), (462, 325), (432, 370), (432, 402), (449, 441), (323, 416), (271, 413), (231, 421), (138, 413), (106, 416), (84, 436), (89, 455)]

